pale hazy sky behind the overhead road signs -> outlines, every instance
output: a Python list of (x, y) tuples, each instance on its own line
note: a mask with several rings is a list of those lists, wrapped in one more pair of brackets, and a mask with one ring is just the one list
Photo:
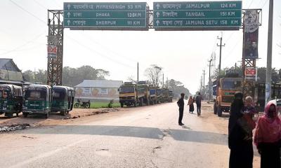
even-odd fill
[[(71, 0), (67, 0), (71, 2)], [(86, 1), (86, 0), (84, 0)], [(84, 2), (83, 1), (83, 2)], [(163, 0), (164, 1), (164, 0)], [(171, 0), (170, 0), (171, 1)], [(14, 2), (14, 3), (13, 3)], [(0, 57), (12, 58), (22, 71), (46, 69), (48, 35), (47, 9), (63, 9), (63, 0), (1, 0)], [(75, 1), (74, 1), (75, 2)], [(95, 2), (92, 0), (92, 2)], [(107, 2), (99, 0), (99, 2)], [(153, 1), (146, 0), (150, 9)], [(266, 66), (268, 0), (243, 0), (242, 8), (262, 8), (259, 29), (258, 66)], [(281, 68), (281, 1), (274, 1), (273, 67)], [(18, 5), (18, 6), (17, 6)], [(145, 69), (150, 64), (164, 68), (164, 76), (180, 80), (195, 93), (200, 87), (202, 70), (209, 74), (207, 60), (219, 48), (216, 43), (221, 31), (70, 31), (65, 29), (63, 66), (91, 65), (110, 71), (107, 79), (136, 78), (140, 64), (140, 79), (146, 80)], [(241, 64), (242, 31), (223, 31), (222, 67)], [(166, 80), (166, 79), (165, 79)], [(208, 76), (205, 83), (207, 85)]]

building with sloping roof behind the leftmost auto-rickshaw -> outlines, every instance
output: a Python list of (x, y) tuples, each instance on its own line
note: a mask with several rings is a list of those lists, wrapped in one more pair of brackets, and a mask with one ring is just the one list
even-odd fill
[(13, 59), (0, 58), (0, 84), (30, 85), (22, 78), (22, 72)]

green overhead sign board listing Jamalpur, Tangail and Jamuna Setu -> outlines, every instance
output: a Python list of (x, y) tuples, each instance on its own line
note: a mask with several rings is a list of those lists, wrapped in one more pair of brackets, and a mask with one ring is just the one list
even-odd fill
[(155, 29), (239, 29), (242, 1), (154, 2)]

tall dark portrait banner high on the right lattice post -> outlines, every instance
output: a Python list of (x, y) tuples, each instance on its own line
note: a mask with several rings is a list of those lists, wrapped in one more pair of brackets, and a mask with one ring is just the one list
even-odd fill
[(244, 13), (244, 59), (258, 59), (259, 13), (258, 10), (245, 10)]

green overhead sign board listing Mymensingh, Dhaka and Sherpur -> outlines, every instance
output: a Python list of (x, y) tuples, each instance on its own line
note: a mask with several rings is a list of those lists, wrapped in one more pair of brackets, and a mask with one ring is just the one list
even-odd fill
[(63, 4), (65, 28), (145, 29), (145, 2)]

